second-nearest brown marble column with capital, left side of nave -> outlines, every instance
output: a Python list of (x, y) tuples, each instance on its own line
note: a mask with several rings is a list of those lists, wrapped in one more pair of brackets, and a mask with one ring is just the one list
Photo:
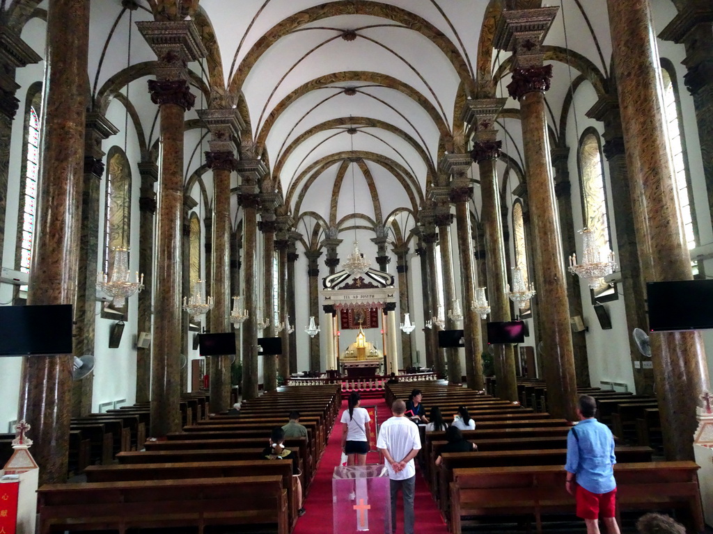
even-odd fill
[(158, 437), (180, 430), (183, 240), (178, 221), (183, 220), (185, 112), (195, 103), (187, 65), (206, 52), (193, 21), (142, 21), (136, 26), (158, 57), (158, 79), (148, 82), (151, 101), (160, 106), (150, 423), (150, 435)]

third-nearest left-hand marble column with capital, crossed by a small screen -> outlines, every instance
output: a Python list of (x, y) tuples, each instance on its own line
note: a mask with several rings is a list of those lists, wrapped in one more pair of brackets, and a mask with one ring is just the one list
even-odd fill
[[(198, 116), (210, 130), (209, 152), (205, 152), (207, 167), (213, 172), (213, 212), (210, 261), (210, 332), (232, 333), (230, 323), (230, 175), (237, 169), (235, 143), (245, 127), (240, 115), (232, 108), (200, 110)], [(230, 409), (230, 356), (210, 357), (210, 409), (222, 412)]]

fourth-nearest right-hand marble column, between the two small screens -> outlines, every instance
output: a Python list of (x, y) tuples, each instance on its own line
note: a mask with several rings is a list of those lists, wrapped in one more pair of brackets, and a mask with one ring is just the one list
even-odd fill
[[(472, 389), (484, 389), (483, 352), (481, 345), (481, 319), (473, 310), (476, 300), (476, 271), (471, 240), (470, 202), (473, 188), (468, 172), (472, 159), (468, 154), (448, 154), (441, 161), (441, 169), (451, 176), (449, 198), (456, 206), (456, 234), (458, 237), (458, 257), (461, 265), (461, 307), (463, 309), (463, 331), (466, 340), (466, 384)], [(503, 397), (508, 398), (508, 397)]]

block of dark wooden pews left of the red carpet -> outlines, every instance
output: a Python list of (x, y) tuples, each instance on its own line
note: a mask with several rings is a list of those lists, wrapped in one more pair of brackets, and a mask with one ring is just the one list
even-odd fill
[(288, 534), (297, 520), (292, 463), (262, 456), (270, 431), (297, 410), (307, 439), (286, 439), (297, 456), (303, 493), (339, 412), (336, 385), (286, 387), (242, 402), (239, 416), (192, 419), (144, 451), (120, 451), (117, 464), (88, 466), (86, 483), (39, 488), (39, 532), (171, 528), (202, 534)]

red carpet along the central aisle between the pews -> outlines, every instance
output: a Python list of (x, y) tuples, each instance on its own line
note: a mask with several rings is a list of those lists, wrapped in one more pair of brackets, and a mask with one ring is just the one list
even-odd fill
[[(386, 409), (384, 399), (365, 399), (362, 407), (376, 406), (379, 424), (391, 417), (391, 410)], [(347, 401), (342, 402), (342, 411), (347, 408)], [(341, 419), (342, 412), (339, 412), (337, 421)], [(324, 449), (322, 460), (317, 468), (317, 475), (314, 477), (312, 487), (309, 489), (309, 496), (304, 501), (304, 508), (307, 513), (297, 520), (297, 526), (293, 534), (332, 534), (332, 473), (334, 467), (339, 464), (342, 457), (342, 425), (334, 425), (332, 434), (329, 435), (327, 449)], [(379, 455), (370, 453), (366, 459), (370, 464), (379, 461)], [(401, 493), (399, 493), (399, 506), (396, 515), (396, 533), (404, 532), (404, 517), (401, 508)], [(436, 503), (431, 498), (426, 481), (421, 476), (421, 472), (416, 469), (416, 532), (415, 534), (448, 534), (446, 525), (441, 520)]]

